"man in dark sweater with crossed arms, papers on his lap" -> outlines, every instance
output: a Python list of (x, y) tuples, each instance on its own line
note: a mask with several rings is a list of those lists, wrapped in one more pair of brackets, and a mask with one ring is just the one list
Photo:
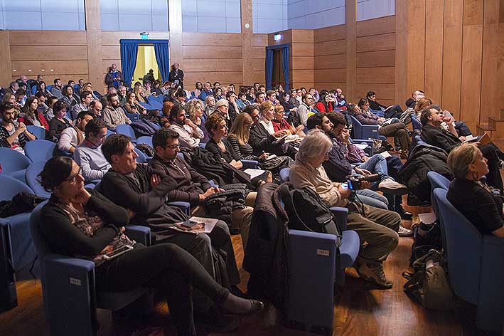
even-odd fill
[[(240, 283), (230, 233), (224, 222), (219, 221), (208, 234), (172, 229), (174, 223), (188, 219), (181, 209), (166, 204), (166, 201), (171, 201), (168, 194), (176, 189), (176, 181), (155, 172), (146, 164), (136, 164), (134, 146), (125, 135), (108, 137), (102, 145), (102, 152), (112, 168), (103, 177), (99, 191), (115, 204), (128, 209), (132, 224), (148, 225), (154, 243), (175, 243), (184, 248), (200, 261), (213, 278), (220, 278), (223, 285)], [(214, 256), (219, 250), (227, 254), (223, 267), (214, 263)], [(204, 295), (195, 295), (194, 301), (195, 310), (199, 312), (207, 312), (212, 305)], [(207, 320), (208, 315), (203, 315), (203, 319)]]

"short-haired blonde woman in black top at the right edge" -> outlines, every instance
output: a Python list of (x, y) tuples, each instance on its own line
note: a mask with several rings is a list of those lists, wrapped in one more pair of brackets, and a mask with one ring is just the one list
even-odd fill
[(481, 234), (504, 238), (503, 199), (481, 182), (489, 170), (478, 146), (466, 143), (454, 148), (447, 163), (455, 179), (446, 198)]

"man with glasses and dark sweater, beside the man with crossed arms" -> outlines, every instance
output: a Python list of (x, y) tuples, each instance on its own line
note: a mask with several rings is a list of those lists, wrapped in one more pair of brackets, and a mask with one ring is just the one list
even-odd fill
[[(208, 179), (193, 169), (186, 160), (178, 156), (180, 147), (178, 144), (178, 133), (161, 128), (154, 133), (152, 145), (156, 150), (156, 156), (149, 162), (149, 166), (161, 177), (169, 176), (175, 179), (176, 187), (168, 192), (168, 199), (171, 201), (187, 201), (191, 204), (191, 214), (195, 216), (205, 216), (203, 200), (218, 191), (224, 191), (218, 187), (212, 187)], [(252, 196), (252, 194), (254, 194)], [(255, 193), (250, 193), (250, 199), (245, 204), (253, 205)], [(251, 204), (252, 203), (252, 204)], [(250, 221), (254, 209), (245, 206), (243, 209), (232, 210), (232, 228), (240, 229), (242, 235), (243, 249), (247, 246), (250, 231)], [(231, 247), (232, 250), (232, 247)]]

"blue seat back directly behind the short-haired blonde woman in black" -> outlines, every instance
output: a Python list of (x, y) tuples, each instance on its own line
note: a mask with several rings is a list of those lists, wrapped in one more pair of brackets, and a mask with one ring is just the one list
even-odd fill
[(478, 303), (480, 286), (482, 235), (459, 210), (446, 199), (447, 191), (434, 189), (439, 217), (446, 231), (446, 258), (451, 287), (456, 295)]

